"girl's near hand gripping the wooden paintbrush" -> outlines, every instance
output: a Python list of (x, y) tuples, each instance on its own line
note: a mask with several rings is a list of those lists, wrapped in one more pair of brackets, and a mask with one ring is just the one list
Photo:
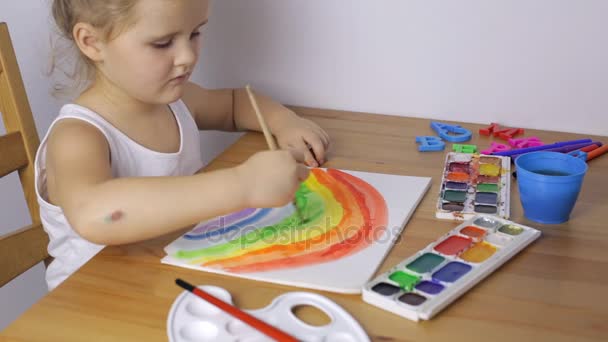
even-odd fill
[(303, 161), (304, 154), (300, 151), (264, 151), (237, 166), (245, 205), (272, 208), (292, 201), (300, 183), (310, 172)]

